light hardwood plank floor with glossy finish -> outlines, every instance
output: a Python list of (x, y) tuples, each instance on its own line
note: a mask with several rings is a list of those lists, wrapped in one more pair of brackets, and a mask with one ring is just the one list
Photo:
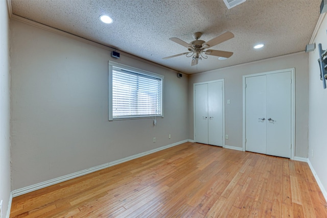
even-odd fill
[(327, 217), (307, 163), (198, 143), (13, 198), (10, 217)]

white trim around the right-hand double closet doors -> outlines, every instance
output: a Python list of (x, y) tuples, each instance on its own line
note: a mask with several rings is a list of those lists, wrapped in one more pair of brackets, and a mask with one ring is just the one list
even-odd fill
[(274, 70), (268, 72), (261, 72), (259, 74), (249, 74), (243, 76), (243, 137), (242, 137), (242, 149), (245, 151), (245, 79), (248, 77), (256, 77), (268, 74), (277, 74), (279, 72), (291, 72), (291, 160), (294, 160), (295, 156), (295, 68)]

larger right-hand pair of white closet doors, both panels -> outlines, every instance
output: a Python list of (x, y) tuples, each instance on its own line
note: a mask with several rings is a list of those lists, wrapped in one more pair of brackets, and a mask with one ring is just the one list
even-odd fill
[(292, 71), (245, 78), (245, 150), (291, 158)]

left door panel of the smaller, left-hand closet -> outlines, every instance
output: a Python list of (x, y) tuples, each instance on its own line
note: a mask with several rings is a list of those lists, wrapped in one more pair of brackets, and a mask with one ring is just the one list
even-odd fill
[(208, 84), (195, 85), (195, 141), (208, 144)]

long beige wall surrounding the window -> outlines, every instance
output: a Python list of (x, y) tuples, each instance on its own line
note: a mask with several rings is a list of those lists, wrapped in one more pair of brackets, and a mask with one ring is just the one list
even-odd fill
[[(185, 75), (19, 21), (11, 31), (14, 190), (188, 139)], [(109, 60), (165, 76), (155, 127), (152, 118), (108, 121)]]

